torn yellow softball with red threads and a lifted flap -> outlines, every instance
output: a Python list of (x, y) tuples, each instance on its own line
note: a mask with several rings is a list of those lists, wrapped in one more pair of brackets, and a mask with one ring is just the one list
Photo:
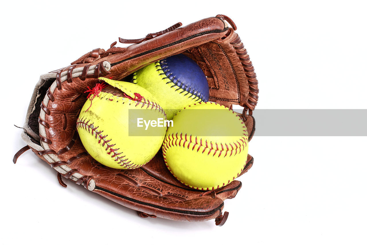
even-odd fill
[(100, 79), (122, 93), (117, 90), (119, 97), (117, 93), (94, 88), (76, 123), (81, 142), (87, 152), (105, 166), (141, 167), (160, 149), (167, 127), (138, 126), (135, 115), (146, 121), (166, 119), (166, 115), (144, 88), (129, 82)]

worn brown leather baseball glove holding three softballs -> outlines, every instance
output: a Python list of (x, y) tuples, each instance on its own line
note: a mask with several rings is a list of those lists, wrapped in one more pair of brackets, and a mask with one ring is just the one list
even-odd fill
[[(229, 27), (228, 24), (231, 26)], [(59, 183), (69, 178), (78, 185), (116, 203), (137, 210), (141, 217), (161, 217), (180, 221), (215, 219), (224, 224), (228, 212), (222, 213), (224, 200), (234, 198), (241, 182), (215, 190), (189, 188), (168, 171), (162, 153), (145, 166), (119, 170), (95, 161), (84, 149), (76, 131), (76, 120), (87, 100), (86, 90), (95, 86), (99, 77), (130, 81), (138, 69), (174, 54), (192, 58), (207, 76), (210, 101), (232, 109), (244, 107), (239, 114), (248, 130), (248, 139), (255, 131), (251, 116), (258, 100), (258, 81), (254, 67), (235, 33), (236, 25), (225, 15), (202, 19), (180, 27), (177, 23), (164, 31), (150, 33), (141, 39), (122, 39), (128, 47), (94, 49), (71, 65), (43, 74), (37, 83), (21, 137), (27, 144), (14, 156), (31, 149), (57, 173)], [(241, 173), (252, 166), (253, 159)]]

